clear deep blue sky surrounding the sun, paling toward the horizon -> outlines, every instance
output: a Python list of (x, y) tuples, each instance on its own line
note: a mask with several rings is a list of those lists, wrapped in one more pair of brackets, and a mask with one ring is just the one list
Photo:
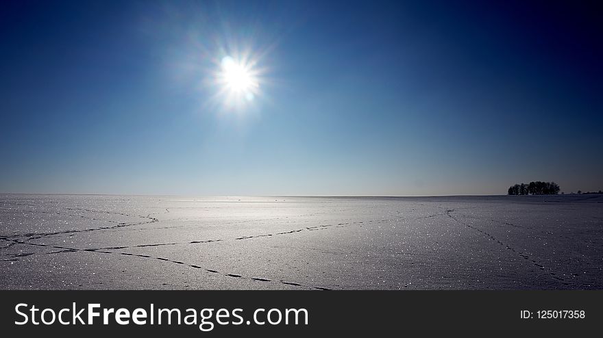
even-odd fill
[(0, 192), (602, 190), (603, 13), (524, 2), (4, 3)]

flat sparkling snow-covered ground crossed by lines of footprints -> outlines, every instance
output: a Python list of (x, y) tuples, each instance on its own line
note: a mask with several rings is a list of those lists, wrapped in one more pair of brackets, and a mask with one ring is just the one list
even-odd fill
[(603, 195), (0, 195), (1, 289), (603, 289)]

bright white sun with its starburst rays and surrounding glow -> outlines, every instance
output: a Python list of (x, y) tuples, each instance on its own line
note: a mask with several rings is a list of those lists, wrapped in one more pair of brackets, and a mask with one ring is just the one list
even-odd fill
[(261, 108), (271, 103), (269, 92), (275, 88), (273, 44), (257, 44), (250, 38), (244, 42), (216, 34), (191, 34), (176, 52), (176, 79), (187, 86), (204, 112), (249, 118), (258, 116)]

